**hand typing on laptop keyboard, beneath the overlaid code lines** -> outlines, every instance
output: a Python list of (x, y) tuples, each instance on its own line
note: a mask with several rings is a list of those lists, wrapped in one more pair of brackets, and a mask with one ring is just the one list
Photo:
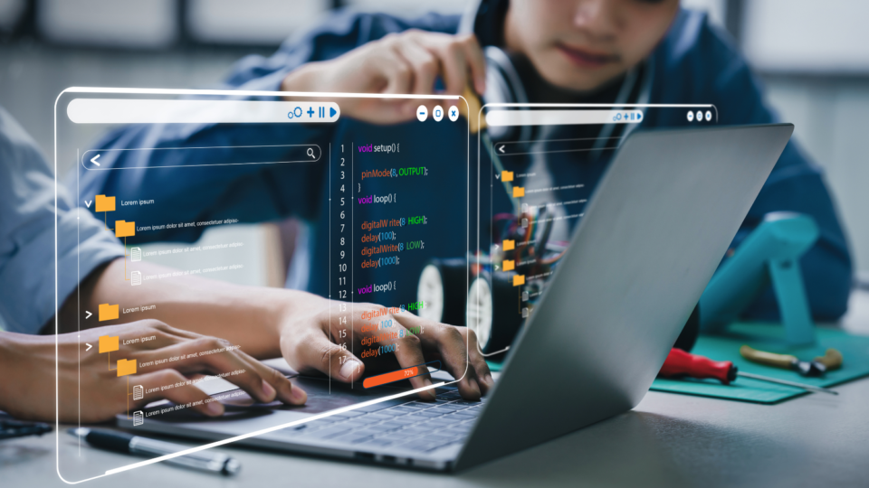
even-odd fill
[[(343, 308), (343, 309), (342, 309)], [(477, 348), (477, 339), (467, 327), (438, 324), (410, 312), (379, 315), (364, 320), (363, 314), (383, 310), (374, 304), (349, 304), (311, 296), (306, 311), (296, 309), (286, 314), (281, 328), (281, 352), (296, 371), (320, 371), (332, 380), (348, 383), (358, 381), (380, 371), (395, 371), (427, 361), (440, 360), (444, 371), (458, 382), (459, 392), (465, 399), (478, 400), (494, 384), (492, 373)], [(346, 317), (346, 322), (341, 322)], [(382, 330), (368, 330), (372, 324), (392, 321)], [(363, 331), (364, 328), (364, 331)], [(383, 343), (363, 344), (363, 340), (387, 332), (404, 331), (403, 337)], [(415, 333), (410, 333), (414, 331)], [(374, 360), (366, 359), (368, 367), (358, 359), (361, 352), (396, 343), (396, 352), (388, 352)], [(346, 344), (342, 347), (340, 344)], [(354, 356), (353, 352), (356, 352)], [(424, 373), (428, 370), (423, 366)], [(428, 374), (410, 379), (411, 385), (423, 388), (432, 385)], [(419, 394), (422, 399), (435, 399), (429, 389)]]

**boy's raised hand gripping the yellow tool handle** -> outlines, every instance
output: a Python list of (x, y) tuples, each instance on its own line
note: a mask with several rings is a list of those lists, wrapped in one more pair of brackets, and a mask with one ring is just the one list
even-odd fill
[[(470, 73), (469, 73), (470, 70)], [(486, 66), (473, 34), (451, 35), (409, 30), (347, 52), (330, 61), (310, 62), (283, 80), (284, 91), (435, 94), (435, 79), (444, 80), (445, 94), (461, 95), (472, 84), (486, 89)], [(341, 99), (341, 112), (376, 124), (395, 124), (415, 117), (424, 104), (431, 111), (438, 100)]]

